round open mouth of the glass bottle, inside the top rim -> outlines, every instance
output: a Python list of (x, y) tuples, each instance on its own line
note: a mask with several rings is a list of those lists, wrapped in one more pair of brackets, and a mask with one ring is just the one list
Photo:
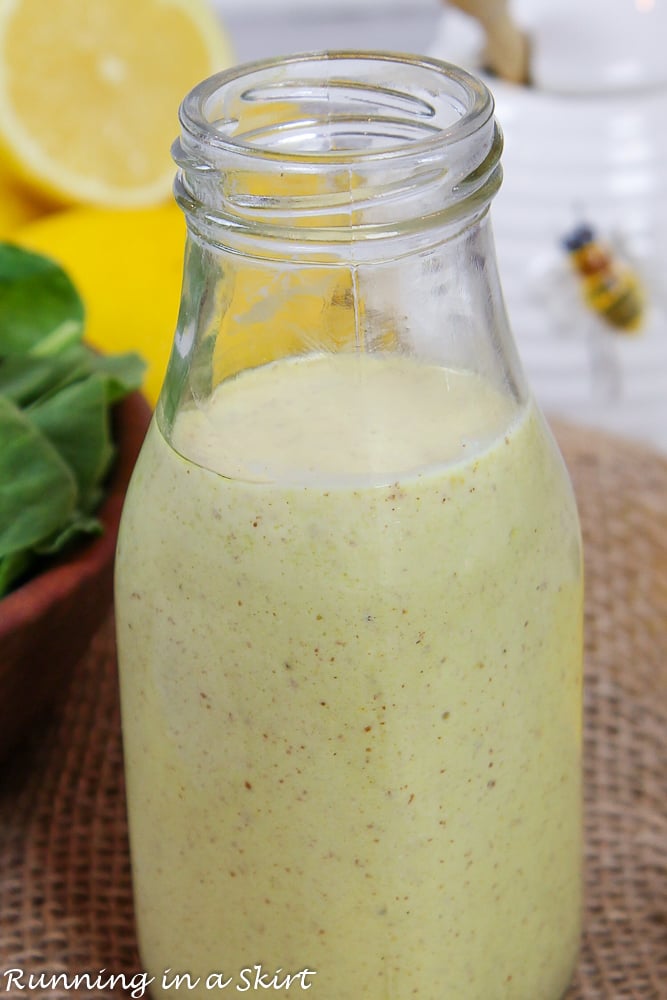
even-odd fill
[(216, 152), (330, 167), (433, 152), (473, 135), (493, 99), (435, 59), (320, 52), (216, 74), (184, 99), (184, 133)]

